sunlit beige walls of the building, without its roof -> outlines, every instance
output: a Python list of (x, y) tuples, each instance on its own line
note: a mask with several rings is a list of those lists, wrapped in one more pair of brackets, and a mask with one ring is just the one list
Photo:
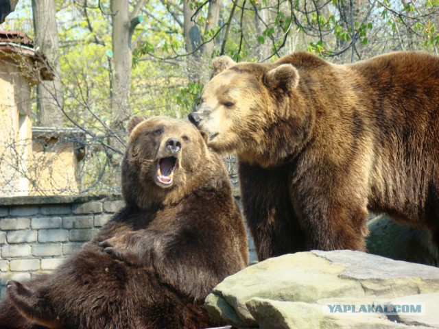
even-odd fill
[(0, 197), (79, 192), (72, 143), (32, 149), (29, 73), (0, 51)]

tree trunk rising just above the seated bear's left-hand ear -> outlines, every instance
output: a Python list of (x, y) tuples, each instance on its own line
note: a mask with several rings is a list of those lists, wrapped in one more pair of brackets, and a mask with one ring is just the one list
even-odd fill
[(119, 133), (130, 117), (130, 13), (128, 0), (111, 0), (112, 12), (112, 130)]

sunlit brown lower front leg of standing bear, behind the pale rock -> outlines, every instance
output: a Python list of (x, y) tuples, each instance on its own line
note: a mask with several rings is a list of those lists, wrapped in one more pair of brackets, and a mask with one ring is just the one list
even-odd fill
[(291, 197), (307, 235), (307, 250), (366, 251), (368, 212), (364, 188), (331, 178), (330, 174), (313, 178), (307, 173), (307, 180), (299, 181)]

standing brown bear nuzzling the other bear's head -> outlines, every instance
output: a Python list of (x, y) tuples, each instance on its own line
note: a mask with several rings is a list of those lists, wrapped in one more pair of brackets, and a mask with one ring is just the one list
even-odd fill
[(213, 62), (189, 120), (236, 153), (260, 260), (364, 250), (366, 214), (424, 226), (439, 246), (439, 57), (399, 52), (355, 64), (293, 53)]

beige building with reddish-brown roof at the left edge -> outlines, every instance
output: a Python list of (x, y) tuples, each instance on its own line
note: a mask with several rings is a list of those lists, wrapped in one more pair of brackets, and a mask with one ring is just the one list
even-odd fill
[(77, 143), (63, 134), (82, 134), (54, 127), (32, 134), (32, 86), (51, 79), (32, 40), (22, 32), (0, 32), (0, 197), (78, 193)]

